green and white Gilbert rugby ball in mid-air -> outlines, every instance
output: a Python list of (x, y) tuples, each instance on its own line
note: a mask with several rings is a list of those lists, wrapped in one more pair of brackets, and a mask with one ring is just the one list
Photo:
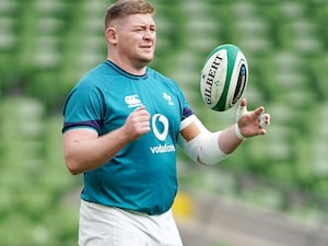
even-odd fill
[(232, 44), (220, 45), (207, 57), (201, 70), (200, 93), (213, 110), (232, 108), (243, 96), (248, 81), (247, 60)]

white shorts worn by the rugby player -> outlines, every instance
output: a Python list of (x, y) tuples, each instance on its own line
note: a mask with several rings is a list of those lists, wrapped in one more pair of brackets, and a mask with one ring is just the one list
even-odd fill
[(183, 246), (172, 211), (148, 215), (81, 200), (80, 246)]

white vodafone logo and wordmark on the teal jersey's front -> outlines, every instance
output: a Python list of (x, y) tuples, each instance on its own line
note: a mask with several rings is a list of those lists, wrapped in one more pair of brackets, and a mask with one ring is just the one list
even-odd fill
[[(168, 133), (168, 128), (169, 128), (169, 122), (166, 116), (161, 115), (161, 114), (155, 114), (152, 117), (152, 130), (155, 134), (155, 137), (160, 141), (165, 141), (167, 133)], [(167, 153), (167, 152), (174, 152), (175, 147), (174, 144), (160, 144), (156, 147), (151, 147), (150, 148), (151, 152), (153, 154), (161, 154), (161, 153)]]

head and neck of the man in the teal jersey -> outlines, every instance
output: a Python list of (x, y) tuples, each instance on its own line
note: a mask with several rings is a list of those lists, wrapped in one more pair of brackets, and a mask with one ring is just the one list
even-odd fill
[(144, 0), (118, 0), (105, 16), (107, 58), (121, 69), (140, 74), (152, 61), (156, 44), (154, 8)]

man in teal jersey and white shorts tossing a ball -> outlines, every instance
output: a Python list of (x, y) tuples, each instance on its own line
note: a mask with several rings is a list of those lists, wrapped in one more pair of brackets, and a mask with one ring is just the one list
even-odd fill
[[(84, 174), (79, 245), (181, 246), (171, 207), (177, 191), (176, 144), (195, 162), (213, 164), (245, 138), (265, 134), (263, 107), (208, 131), (178, 85), (149, 68), (154, 58), (154, 9), (118, 0), (106, 12), (107, 59), (85, 74), (63, 106), (63, 153)], [(260, 118), (263, 118), (260, 122)]]

